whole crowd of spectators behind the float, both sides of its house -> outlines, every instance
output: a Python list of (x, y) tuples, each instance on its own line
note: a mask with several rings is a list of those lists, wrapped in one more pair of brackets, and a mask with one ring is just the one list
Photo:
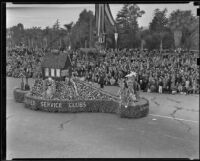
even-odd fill
[[(36, 77), (44, 54), (42, 49), (8, 50), (7, 76), (20, 77), (20, 71), (28, 68), (29, 77)], [(135, 71), (142, 91), (199, 93), (198, 55), (192, 51), (108, 49), (97, 56), (76, 50), (70, 56), (74, 75), (101, 87), (118, 86), (127, 74)]]

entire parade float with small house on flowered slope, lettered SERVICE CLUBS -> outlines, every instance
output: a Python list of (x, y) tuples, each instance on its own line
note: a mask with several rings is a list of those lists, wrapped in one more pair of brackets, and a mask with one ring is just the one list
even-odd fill
[(103, 112), (127, 118), (148, 114), (148, 100), (140, 97), (132, 99), (135, 93), (131, 85), (126, 94), (121, 92), (119, 97), (73, 77), (70, 70), (68, 53), (46, 54), (42, 63), (42, 78), (36, 78), (31, 90), (24, 91), (23, 99), (16, 101), (24, 102), (26, 108), (48, 112)]

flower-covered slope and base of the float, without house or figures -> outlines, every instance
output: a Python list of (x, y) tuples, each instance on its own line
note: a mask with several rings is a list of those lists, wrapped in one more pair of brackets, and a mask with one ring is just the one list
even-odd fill
[[(128, 98), (130, 99), (130, 98)], [(132, 104), (77, 78), (69, 81), (35, 80), (31, 92), (25, 95), (25, 107), (49, 112), (106, 112), (121, 117), (146, 116), (149, 102), (144, 98)]]

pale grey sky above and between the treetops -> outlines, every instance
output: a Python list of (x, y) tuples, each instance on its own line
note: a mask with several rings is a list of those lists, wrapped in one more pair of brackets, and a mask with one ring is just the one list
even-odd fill
[[(110, 4), (110, 9), (114, 19), (117, 13), (121, 10), (123, 4)], [(163, 10), (167, 8), (169, 14), (177, 9), (191, 10), (193, 15), (196, 16), (197, 6), (193, 3), (186, 4), (138, 4), (145, 14), (138, 18), (140, 27), (148, 27), (153, 18), (153, 13), (156, 8)], [(52, 27), (53, 24), (59, 19), (61, 27), (70, 22), (76, 22), (79, 14), (84, 10), (95, 11), (94, 4), (12, 4), (6, 3), (6, 26), (7, 28), (22, 23), (24, 28), (31, 28), (33, 26), (45, 28)]]

